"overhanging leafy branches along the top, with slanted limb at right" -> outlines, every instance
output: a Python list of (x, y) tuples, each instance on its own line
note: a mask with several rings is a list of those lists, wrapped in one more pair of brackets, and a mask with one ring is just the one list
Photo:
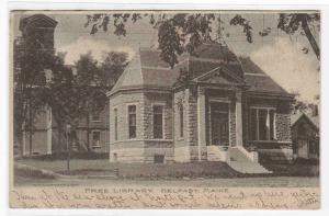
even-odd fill
[[(152, 27), (158, 29), (161, 58), (171, 67), (178, 62), (178, 56), (183, 52), (193, 55), (202, 42), (216, 39), (214, 34), (212, 35), (213, 32), (217, 32), (217, 35), (223, 33), (220, 25), (223, 21), (219, 13), (97, 13), (87, 15), (84, 26), (91, 26), (90, 34), (95, 34), (100, 30), (107, 32), (113, 26), (115, 35), (125, 36), (127, 34), (125, 26), (128, 22), (136, 23), (146, 18)], [(319, 13), (281, 13), (277, 27), (287, 34), (294, 34), (298, 29), (302, 29), (319, 59), (320, 50), (309, 30), (309, 25), (316, 24), (319, 19)], [(242, 18), (241, 14), (236, 14), (229, 24), (241, 26), (247, 42), (252, 43), (253, 29), (250, 21)], [(266, 27), (259, 34), (266, 36), (270, 31)]]

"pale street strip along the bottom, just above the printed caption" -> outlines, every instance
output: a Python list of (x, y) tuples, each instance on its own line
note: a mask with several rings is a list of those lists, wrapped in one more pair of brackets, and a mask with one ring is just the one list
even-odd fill
[(319, 178), (266, 177), (266, 178), (196, 178), (175, 180), (131, 180), (131, 179), (29, 179), (16, 178), (16, 186), (25, 185), (99, 185), (99, 186), (178, 186), (178, 187), (317, 187)]

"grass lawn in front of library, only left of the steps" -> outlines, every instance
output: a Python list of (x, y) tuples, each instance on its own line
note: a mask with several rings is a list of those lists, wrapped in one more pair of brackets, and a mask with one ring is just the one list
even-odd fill
[[(49, 170), (60, 174), (68, 174), (66, 160), (35, 160), (22, 159), (18, 163), (31, 166), (37, 169)], [(118, 170), (118, 171), (117, 171)], [(117, 171), (117, 172), (116, 172)], [(239, 173), (225, 162), (188, 162), (188, 163), (110, 163), (106, 159), (72, 159), (70, 160), (70, 173), (78, 175), (107, 175), (117, 173), (121, 178), (197, 178), (220, 177), (234, 178)]]

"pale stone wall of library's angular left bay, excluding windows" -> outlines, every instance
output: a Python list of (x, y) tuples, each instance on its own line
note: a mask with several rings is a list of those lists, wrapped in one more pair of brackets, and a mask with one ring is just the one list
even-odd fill
[[(128, 105), (136, 105), (136, 138), (128, 137)], [(154, 138), (154, 105), (163, 105), (163, 138)], [(115, 116), (117, 110), (117, 140)], [(155, 162), (156, 156), (163, 162), (173, 160), (171, 93), (126, 92), (110, 98), (110, 161)]]

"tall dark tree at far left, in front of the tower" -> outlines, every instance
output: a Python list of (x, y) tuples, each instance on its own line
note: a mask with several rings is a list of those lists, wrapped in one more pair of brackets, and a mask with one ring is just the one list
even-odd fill
[(13, 46), (13, 117), (14, 134), (23, 154), (23, 130), (30, 132), (32, 154), (33, 121), (42, 112), (41, 89), (45, 86), (45, 69), (50, 67), (54, 50), (37, 43), (37, 36), (18, 38)]

